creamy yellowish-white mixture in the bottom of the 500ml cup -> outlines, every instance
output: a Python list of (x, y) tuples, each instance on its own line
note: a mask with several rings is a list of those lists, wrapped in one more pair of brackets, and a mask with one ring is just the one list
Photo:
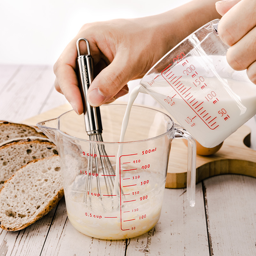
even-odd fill
[[(154, 172), (140, 173), (140, 176), (141, 180), (149, 179), (151, 182), (140, 189), (139, 195), (132, 197), (136, 201), (122, 204), (121, 208), (119, 196), (98, 197), (97, 188), (92, 189), (90, 203), (85, 203), (85, 191), (79, 189), (84, 188), (84, 179), (82, 175), (77, 176), (74, 181), (76, 189), (65, 190), (68, 219), (71, 224), (81, 233), (100, 239), (125, 239), (146, 233), (160, 218), (165, 178)], [(104, 180), (101, 180), (100, 184), (104, 184)], [(140, 197), (145, 195), (147, 198), (140, 200)], [(127, 196), (123, 198), (129, 200)], [(124, 231), (121, 230), (120, 211), (123, 229), (127, 229)]]

